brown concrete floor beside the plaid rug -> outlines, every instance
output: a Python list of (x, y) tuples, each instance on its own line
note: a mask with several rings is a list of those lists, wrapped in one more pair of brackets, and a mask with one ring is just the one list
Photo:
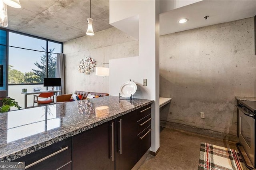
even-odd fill
[(201, 142), (236, 149), (235, 142), (161, 128), (160, 151), (156, 157), (148, 154), (139, 170), (197, 170)]

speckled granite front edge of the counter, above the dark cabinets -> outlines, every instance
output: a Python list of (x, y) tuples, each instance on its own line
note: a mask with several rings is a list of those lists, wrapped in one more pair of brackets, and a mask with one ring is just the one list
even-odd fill
[(85, 127), (78, 128), (78, 129), (76, 129), (76, 130), (73, 130), (73, 131), (71, 131), (71, 132), (67, 132), (67, 133), (62, 134), (62, 135), (60, 135), (60, 136), (56, 136), (56, 137), (54, 137), (54, 138), (51, 138), (51, 139), (46, 140), (46, 141), (44, 141), (44, 142), (41, 142), (41, 143), (39, 143), (39, 144), (36, 144), (36, 145), (30, 146), (30, 147), (28, 147), (28, 148), (22, 149), (22, 150), (20, 150), (20, 151), (18, 151), (18, 152), (14, 152), (14, 153), (12, 153), (12, 154), (8, 154), (7, 156), (1, 157), (1, 158), (0, 158), (0, 161), (1, 161), (1, 162), (2, 162), (2, 161), (6, 162), (6, 161), (13, 161), (13, 160), (16, 160), (16, 159), (18, 159), (18, 158), (20, 158), (20, 157), (22, 157), (22, 156), (26, 156), (26, 155), (28, 155), (28, 154), (30, 154), (30, 153), (36, 152), (36, 151), (38, 151), (38, 150), (40, 150), (40, 149), (42, 149), (42, 148), (45, 148), (45, 147), (47, 147), (47, 146), (50, 146), (50, 145), (54, 144), (54, 143), (60, 142), (60, 141), (62, 141), (62, 140), (64, 140), (64, 139), (70, 138), (70, 137), (72, 137), (72, 136), (74, 136), (74, 135), (76, 135), (76, 134), (82, 133), (82, 132), (84, 132), (84, 131), (86, 131), (86, 130), (89, 130), (89, 129), (91, 129), (91, 128), (94, 128), (94, 127), (96, 127), (96, 126), (98, 126), (98, 125), (101, 125), (101, 124), (103, 124), (103, 123), (106, 123), (106, 122), (108, 122), (108, 121), (111, 121), (111, 120), (113, 120), (113, 119), (116, 119), (116, 118), (118, 118), (118, 117), (120, 117), (120, 116), (122, 116), (122, 115), (125, 115), (125, 114), (127, 114), (127, 113), (130, 113), (130, 112), (135, 111), (135, 110), (137, 110), (137, 109), (140, 109), (141, 107), (144, 107), (144, 106), (146, 106), (146, 105), (152, 104), (153, 102), (154, 102), (154, 101), (149, 101), (149, 102), (144, 103), (144, 104), (142, 104), (142, 105), (140, 105), (140, 106), (138, 106), (138, 107), (134, 107), (134, 108), (129, 109), (129, 110), (127, 110), (127, 111), (120, 112), (120, 113), (118, 113), (118, 114), (116, 114), (116, 115), (107, 117), (107, 118), (105, 118), (105, 119), (103, 119), (103, 120), (100, 120), (100, 121), (98, 121), (98, 122), (91, 123), (90, 125), (87, 125), (87, 126), (85, 126)]

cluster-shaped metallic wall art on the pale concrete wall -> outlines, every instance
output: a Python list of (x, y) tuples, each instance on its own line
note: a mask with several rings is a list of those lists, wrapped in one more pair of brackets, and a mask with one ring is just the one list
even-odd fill
[(78, 70), (80, 73), (90, 74), (93, 72), (93, 67), (95, 67), (96, 61), (90, 57), (79, 60)]

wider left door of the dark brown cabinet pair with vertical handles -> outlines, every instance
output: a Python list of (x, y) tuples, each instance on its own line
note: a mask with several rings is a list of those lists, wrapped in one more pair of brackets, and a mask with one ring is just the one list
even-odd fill
[(73, 136), (73, 170), (114, 170), (114, 122)]

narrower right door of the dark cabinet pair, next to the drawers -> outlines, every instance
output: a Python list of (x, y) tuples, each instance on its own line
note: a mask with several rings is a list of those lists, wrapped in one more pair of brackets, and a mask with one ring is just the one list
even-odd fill
[(116, 118), (116, 170), (130, 170), (137, 163), (137, 111)]

